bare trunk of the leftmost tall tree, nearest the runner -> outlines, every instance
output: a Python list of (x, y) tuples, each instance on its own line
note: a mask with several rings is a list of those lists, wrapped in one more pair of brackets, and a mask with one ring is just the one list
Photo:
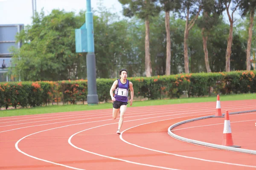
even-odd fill
[(150, 48), (149, 48), (149, 20), (145, 20), (145, 74), (146, 77), (151, 77), (151, 59), (150, 59)]

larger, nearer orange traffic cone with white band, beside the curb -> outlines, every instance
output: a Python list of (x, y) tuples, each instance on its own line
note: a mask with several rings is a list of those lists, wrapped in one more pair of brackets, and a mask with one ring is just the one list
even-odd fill
[(228, 111), (226, 111), (226, 114), (225, 114), (222, 145), (230, 146), (230, 147), (240, 147), (240, 146), (234, 145), (233, 143)]

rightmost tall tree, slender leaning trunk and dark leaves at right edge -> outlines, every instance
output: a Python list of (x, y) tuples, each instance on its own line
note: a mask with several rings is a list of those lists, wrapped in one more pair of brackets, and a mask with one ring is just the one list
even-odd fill
[(253, 37), (253, 18), (256, 8), (255, 0), (242, 0), (239, 5), (241, 16), (245, 17), (247, 14), (250, 14), (250, 26), (248, 29), (248, 40), (247, 40), (247, 49), (246, 49), (246, 70), (250, 71), (250, 51), (251, 51), (251, 43)]

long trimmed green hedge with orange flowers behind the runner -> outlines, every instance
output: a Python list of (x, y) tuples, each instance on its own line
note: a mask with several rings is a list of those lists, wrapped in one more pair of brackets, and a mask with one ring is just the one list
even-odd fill
[[(256, 71), (177, 74), (156, 77), (129, 77), (134, 96), (148, 99), (180, 98), (183, 95), (256, 93)], [(109, 91), (116, 79), (97, 79), (99, 102), (110, 99)], [(129, 94), (130, 95), (130, 94)], [(76, 104), (87, 100), (87, 80), (58, 82), (0, 83), (0, 107), (35, 107), (53, 102)]]

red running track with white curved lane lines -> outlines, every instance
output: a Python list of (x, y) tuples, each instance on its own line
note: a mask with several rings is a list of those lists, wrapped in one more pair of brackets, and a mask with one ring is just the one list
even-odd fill
[[(256, 100), (221, 102), (221, 110), (256, 110), (255, 103)], [(125, 114), (120, 136), (116, 134), (119, 119), (112, 119), (112, 109), (3, 117), (0, 169), (256, 169), (256, 155), (191, 144), (167, 133), (168, 127), (177, 122), (214, 115), (215, 107), (216, 102), (131, 107)], [(255, 113), (230, 115), (234, 144), (255, 150), (254, 119)], [(189, 122), (175, 127), (174, 132), (221, 144), (222, 120)]]

